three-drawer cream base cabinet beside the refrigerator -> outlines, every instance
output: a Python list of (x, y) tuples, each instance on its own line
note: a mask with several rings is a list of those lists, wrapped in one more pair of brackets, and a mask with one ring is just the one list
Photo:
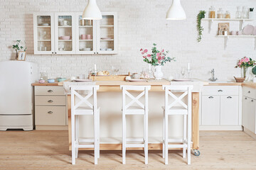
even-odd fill
[(67, 130), (66, 103), (63, 86), (35, 86), (36, 130)]

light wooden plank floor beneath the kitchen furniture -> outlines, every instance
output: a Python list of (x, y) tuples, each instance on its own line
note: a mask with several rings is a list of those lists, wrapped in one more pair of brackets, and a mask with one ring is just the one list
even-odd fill
[(170, 151), (166, 166), (161, 151), (149, 152), (148, 165), (142, 151), (127, 151), (125, 165), (121, 151), (102, 151), (98, 165), (92, 151), (80, 151), (72, 165), (68, 131), (0, 132), (0, 169), (256, 169), (256, 140), (245, 132), (201, 131), (200, 152), (187, 165), (181, 151)]

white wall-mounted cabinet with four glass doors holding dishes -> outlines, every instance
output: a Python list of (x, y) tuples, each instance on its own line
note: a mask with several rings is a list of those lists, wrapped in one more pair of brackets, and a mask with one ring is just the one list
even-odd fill
[(34, 13), (34, 53), (117, 54), (117, 13), (102, 12), (102, 20), (82, 19), (82, 13)]

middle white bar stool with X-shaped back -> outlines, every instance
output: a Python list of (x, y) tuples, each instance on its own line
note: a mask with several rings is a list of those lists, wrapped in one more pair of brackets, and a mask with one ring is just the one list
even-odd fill
[[(127, 147), (144, 147), (145, 164), (148, 164), (148, 112), (149, 112), (149, 90), (151, 86), (120, 86), (122, 89), (122, 163), (125, 164)], [(142, 91), (137, 97), (128, 91)], [(126, 103), (126, 96), (132, 99)], [(145, 102), (141, 103), (139, 98), (144, 96)], [(132, 106), (133, 104), (137, 106)], [(125, 115), (144, 115), (144, 135), (142, 139), (127, 139)]]

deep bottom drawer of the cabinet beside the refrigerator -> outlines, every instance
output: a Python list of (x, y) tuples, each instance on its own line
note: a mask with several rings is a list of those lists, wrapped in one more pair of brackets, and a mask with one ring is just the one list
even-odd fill
[(36, 125), (65, 125), (65, 106), (36, 106)]

